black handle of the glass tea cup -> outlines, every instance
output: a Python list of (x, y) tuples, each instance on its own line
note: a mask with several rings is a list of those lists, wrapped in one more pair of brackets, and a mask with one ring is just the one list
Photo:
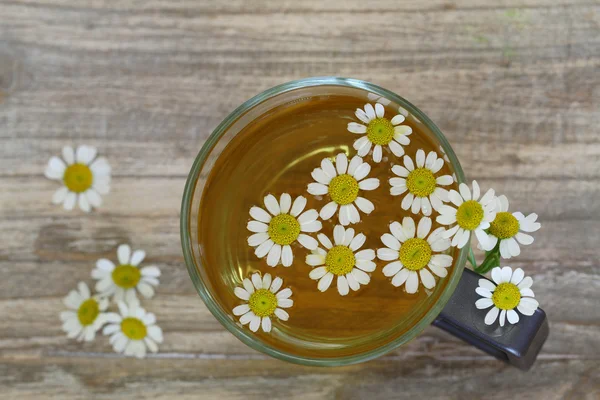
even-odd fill
[(489, 310), (478, 310), (475, 302), (481, 298), (475, 289), (479, 279), (487, 279), (465, 269), (452, 297), (433, 325), (517, 368), (527, 370), (534, 363), (548, 337), (546, 313), (538, 308), (532, 316), (519, 315), (520, 321), (500, 327), (484, 324)]

